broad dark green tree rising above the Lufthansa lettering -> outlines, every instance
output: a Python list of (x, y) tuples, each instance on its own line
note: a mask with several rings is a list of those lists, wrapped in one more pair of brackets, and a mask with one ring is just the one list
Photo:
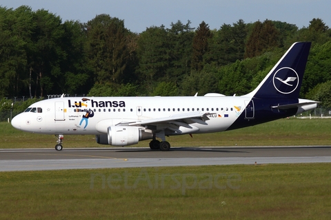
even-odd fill
[(124, 21), (97, 15), (85, 25), (87, 53), (97, 83), (123, 83), (129, 50)]

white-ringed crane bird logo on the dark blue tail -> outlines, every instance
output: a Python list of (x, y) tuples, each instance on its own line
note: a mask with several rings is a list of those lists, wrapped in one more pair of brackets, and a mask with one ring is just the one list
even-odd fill
[(272, 81), (281, 94), (291, 94), (299, 85), (299, 75), (294, 69), (283, 67), (277, 70)]

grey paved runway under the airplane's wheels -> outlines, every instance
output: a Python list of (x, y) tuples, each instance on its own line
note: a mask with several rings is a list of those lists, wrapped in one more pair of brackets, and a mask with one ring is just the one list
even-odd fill
[(0, 171), (331, 162), (331, 146), (0, 149)]

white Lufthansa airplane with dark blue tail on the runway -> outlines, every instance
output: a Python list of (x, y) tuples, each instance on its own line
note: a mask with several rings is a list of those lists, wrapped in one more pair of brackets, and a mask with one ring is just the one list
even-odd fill
[(151, 140), (151, 149), (169, 151), (166, 136), (240, 129), (317, 108), (319, 102), (299, 98), (310, 45), (294, 43), (259, 86), (244, 96), (61, 96), (31, 104), (11, 123), (22, 131), (57, 135), (57, 151), (67, 134), (95, 135), (98, 144), (112, 146)]

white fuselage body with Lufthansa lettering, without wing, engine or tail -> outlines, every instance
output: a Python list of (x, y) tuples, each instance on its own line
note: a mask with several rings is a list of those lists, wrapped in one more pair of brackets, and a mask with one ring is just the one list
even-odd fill
[[(90, 97), (53, 98), (32, 104), (37, 111), (17, 115), (12, 124), (23, 131), (44, 134), (101, 134), (108, 126), (137, 122), (172, 115), (209, 113), (204, 123), (181, 126), (181, 133), (209, 133), (225, 131), (245, 110), (250, 98), (226, 97)], [(88, 110), (92, 117), (85, 117)], [(166, 122), (156, 123), (157, 129)], [(179, 123), (179, 122), (178, 122)], [(177, 123), (177, 124), (178, 124)]]

